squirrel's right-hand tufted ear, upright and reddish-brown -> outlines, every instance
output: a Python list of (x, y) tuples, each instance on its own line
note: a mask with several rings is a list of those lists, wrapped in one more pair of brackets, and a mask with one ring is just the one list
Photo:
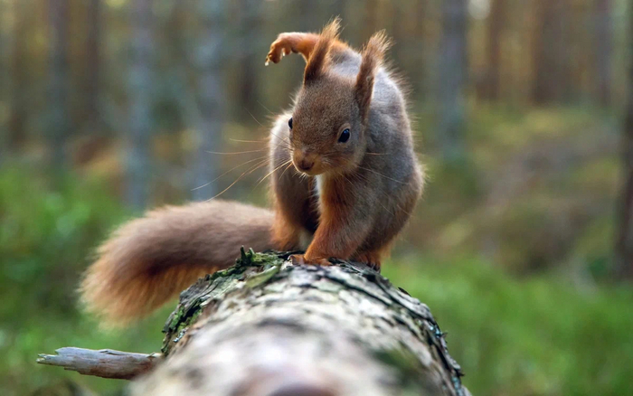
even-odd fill
[(369, 105), (372, 101), (373, 80), (376, 71), (383, 63), (384, 53), (387, 52), (391, 42), (384, 31), (374, 33), (363, 49), (363, 61), (361, 70), (356, 76), (354, 96), (361, 110), (363, 121), (369, 115)]

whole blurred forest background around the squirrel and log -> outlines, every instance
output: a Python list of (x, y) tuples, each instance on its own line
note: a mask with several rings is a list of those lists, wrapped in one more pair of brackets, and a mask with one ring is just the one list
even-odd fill
[(0, 0), (0, 394), (119, 394), (36, 355), (156, 351), (173, 306), (100, 331), (80, 272), (145, 208), (266, 203), (253, 151), (304, 62), (264, 58), (278, 33), (333, 15), (356, 47), (394, 38), (430, 183), (383, 269), (430, 305), (464, 383), (630, 394), (629, 3)]

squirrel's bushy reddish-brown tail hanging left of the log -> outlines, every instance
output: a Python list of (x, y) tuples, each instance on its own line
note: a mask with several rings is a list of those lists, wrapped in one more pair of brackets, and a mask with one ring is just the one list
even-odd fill
[(272, 221), (268, 210), (224, 201), (148, 212), (101, 245), (81, 283), (81, 299), (107, 325), (124, 325), (197, 278), (231, 266), (242, 245), (272, 248)]

